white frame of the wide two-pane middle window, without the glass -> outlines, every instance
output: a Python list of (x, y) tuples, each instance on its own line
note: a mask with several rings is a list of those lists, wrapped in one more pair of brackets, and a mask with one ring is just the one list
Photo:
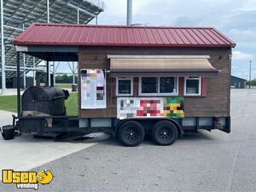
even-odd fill
[[(157, 83), (158, 83), (158, 93), (142, 93), (142, 78), (157, 78)], [(176, 92), (174, 93), (160, 93), (160, 78), (174, 78), (176, 79)], [(178, 84), (179, 84), (179, 77), (178, 76), (141, 76), (139, 77), (139, 86), (138, 86), (138, 96), (178, 96)]]

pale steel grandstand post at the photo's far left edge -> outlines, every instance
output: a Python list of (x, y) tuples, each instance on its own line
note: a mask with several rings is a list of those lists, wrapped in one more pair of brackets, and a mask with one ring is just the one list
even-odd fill
[(1, 63), (2, 63), (2, 94), (6, 90), (5, 84), (5, 48), (3, 37), (3, 0), (1, 0)]

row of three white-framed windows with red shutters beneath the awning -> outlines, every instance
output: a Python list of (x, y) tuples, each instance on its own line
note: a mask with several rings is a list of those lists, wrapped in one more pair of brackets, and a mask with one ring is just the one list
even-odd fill
[(207, 78), (117, 77), (112, 96), (207, 96)]

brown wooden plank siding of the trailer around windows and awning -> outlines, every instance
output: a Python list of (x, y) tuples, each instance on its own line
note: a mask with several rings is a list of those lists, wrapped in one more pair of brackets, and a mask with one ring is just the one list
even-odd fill
[[(220, 72), (207, 80), (207, 96), (185, 96), (186, 117), (229, 116), (230, 115), (230, 48), (137, 48), (137, 47), (81, 47), (79, 49), (79, 70), (81, 68), (106, 68), (110, 62), (107, 55), (210, 55), (209, 61)], [(136, 83), (136, 81), (135, 81)], [(80, 77), (79, 77), (80, 86)], [(106, 109), (80, 110), (81, 118), (116, 117), (116, 97), (113, 96), (113, 81), (107, 78)], [(136, 89), (136, 88), (134, 88)], [(137, 93), (137, 90), (134, 90)], [(181, 90), (179, 90), (181, 91)], [(203, 90), (204, 91), (204, 90)]]

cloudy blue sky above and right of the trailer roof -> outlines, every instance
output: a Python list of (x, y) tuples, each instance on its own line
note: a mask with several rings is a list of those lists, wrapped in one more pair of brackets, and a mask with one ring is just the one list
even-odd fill
[[(98, 24), (126, 23), (126, 0), (104, 0)], [(236, 42), (232, 73), (256, 78), (256, 0), (133, 0), (133, 23), (148, 26), (213, 26)], [(92, 20), (90, 24), (95, 24)]]

